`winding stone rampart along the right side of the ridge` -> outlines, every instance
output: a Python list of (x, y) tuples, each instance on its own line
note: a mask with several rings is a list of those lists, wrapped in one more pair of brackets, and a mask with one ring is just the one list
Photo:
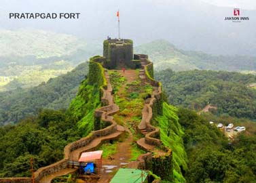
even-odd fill
[[(160, 140), (160, 129), (152, 125), (153, 119), (157, 115), (163, 114), (163, 101), (162, 101), (162, 84), (153, 79), (153, 63), (148, 60), (147, 55), (137, 54), (134, 58), (141, 60), (140, 71), (141, 78), (145, 79), (147, 83), (150, 83), (153, 87), (153, 94), (151, 98), (145, 100), (142, 120), (139, 125), (139, 129), (146, 129), (147, 133), (145, 138), (137, 141), (137, 144), (147, 150), (145, 155), (139, 157), (139, 168), (150, 169), (153, 174), (160, 176), (164, 180), (171, 180), (172, 178), (172, 151), (163, 146)], [(149, 144), (147, 146), (145, 144)], [(152, 146), (156, 146), (160, 150), (157, 155), (152, 155)], [(162, 168), (159, 168), (162, 167)], [(159, 170), (161, 169), (161, 170)], [(155, 180), (160, 182), (160, 180)]]

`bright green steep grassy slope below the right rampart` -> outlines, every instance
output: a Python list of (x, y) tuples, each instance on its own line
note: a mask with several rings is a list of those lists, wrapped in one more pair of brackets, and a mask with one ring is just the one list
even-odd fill
[(173, 182), (186, 182), (183, 172), (187, 170), (187, 155), (183, 146), (183, 129), (179, 124), (177, 108), (164, 102), (163, 115), (158, 116), (161, 133), (160, 138), (164, 146), (172, 149)]

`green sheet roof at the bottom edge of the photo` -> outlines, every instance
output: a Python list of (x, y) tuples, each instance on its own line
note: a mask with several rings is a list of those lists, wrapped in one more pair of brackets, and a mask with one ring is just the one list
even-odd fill
[(110, 183), (147, 183), (147, 171), (132, 168), (120, 168)]

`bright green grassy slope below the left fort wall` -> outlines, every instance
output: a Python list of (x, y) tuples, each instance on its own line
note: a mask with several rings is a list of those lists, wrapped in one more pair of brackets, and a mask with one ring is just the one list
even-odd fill
[(77, 96), (69, 105), (67, 113), (77, 121), (81, 136), (87, 136), (94, 129), (94, 110), (101, 105), (103, 88), (107, 87), (104, 68), (90, 58), (88, 78), (84, 80)]

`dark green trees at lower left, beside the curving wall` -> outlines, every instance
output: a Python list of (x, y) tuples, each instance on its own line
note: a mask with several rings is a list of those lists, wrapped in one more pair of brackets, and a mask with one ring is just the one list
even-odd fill
[(49, 165), (79, 138), (74, 120), (63, 110), (41, 110), (37, 117), (0, 129), (0, 177), (31, 176), (31, 157), (35, 169)]

